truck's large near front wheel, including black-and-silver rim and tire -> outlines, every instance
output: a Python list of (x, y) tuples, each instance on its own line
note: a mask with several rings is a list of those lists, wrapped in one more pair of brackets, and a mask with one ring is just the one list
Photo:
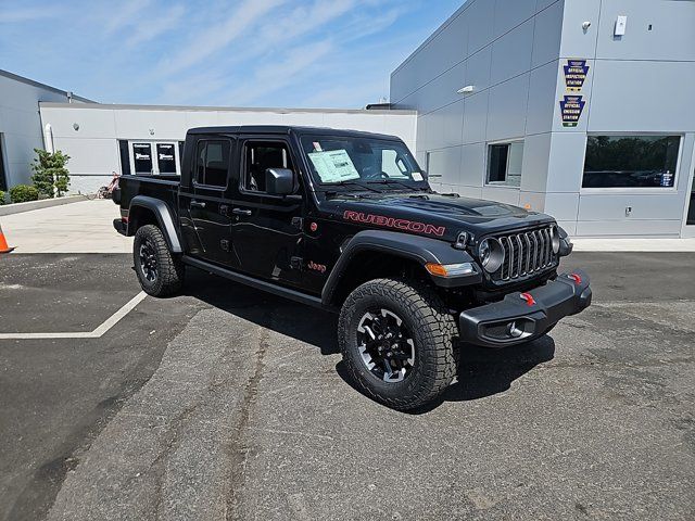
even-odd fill
[(399, 410), (439, 396), (456, 374), (454, 317), (431, 288), (376, 279), (355, 289), (340, 312), (339, 344), (357, 386)]

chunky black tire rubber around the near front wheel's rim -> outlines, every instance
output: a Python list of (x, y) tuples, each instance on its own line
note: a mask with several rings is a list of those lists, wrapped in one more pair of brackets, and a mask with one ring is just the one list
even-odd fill
[[(367, 369), (357, 347), (357, 326), (367, 309), (384, 307), (409, 330), (416, 357), (412, 372), (400, 382), (379, 380)], [(356, 386), (393, 409), (417, 409), (437, 398), (456, 374), (454, 317), (426, 284), (403, 279), (375, 279), (355, 289), (345, 300), (338, 322), (343, 361)]]

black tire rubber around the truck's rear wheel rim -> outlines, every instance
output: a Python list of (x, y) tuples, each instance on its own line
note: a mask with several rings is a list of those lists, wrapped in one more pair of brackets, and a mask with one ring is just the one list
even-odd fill
[[(149, 242), (156, 257), (156, 277), (148, 280), (141, 269), (140, 246)], [(184, 284), (185, 267), (181, 259), (173, 255), (166, 244), (162, 230), (154, 225), (146, 225), (138, 229), (132, 242), (132, 262), (142, 290), (152, 296), (169, 296), (176, 294)]]

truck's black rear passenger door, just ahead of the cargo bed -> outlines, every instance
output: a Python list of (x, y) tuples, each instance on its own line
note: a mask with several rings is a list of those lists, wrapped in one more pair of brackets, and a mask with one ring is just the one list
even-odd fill
[(232, 140), (201, 137), (195, 143), (191, 186), (181, 190), (181, 221), (191, 254), (211, 263), (236, 266), (226, 192), (233, 155)]

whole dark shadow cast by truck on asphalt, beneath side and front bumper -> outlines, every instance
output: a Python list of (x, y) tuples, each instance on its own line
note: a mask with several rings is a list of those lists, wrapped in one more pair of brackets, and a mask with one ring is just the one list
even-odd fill
[[(338, 316), (334, 314), (198, 269), (189, 269), (186, 277), (185, 294), (260, 327), (314, 345), (323, 355), (340, 352), (336, 334)], [(414, 414), (428, 412), (443, 402), (466, 402), (505, 392), (516, 379), (539, 364), (552, 360), (554, 356), (555, 341), (548, 335), (528, 344), (500, 350), (460, 345), (457, 381), (448, 386), (440, 399)], [(336, 365), (336, 370), (349, 385), (356, 389), (342, 361)]]

